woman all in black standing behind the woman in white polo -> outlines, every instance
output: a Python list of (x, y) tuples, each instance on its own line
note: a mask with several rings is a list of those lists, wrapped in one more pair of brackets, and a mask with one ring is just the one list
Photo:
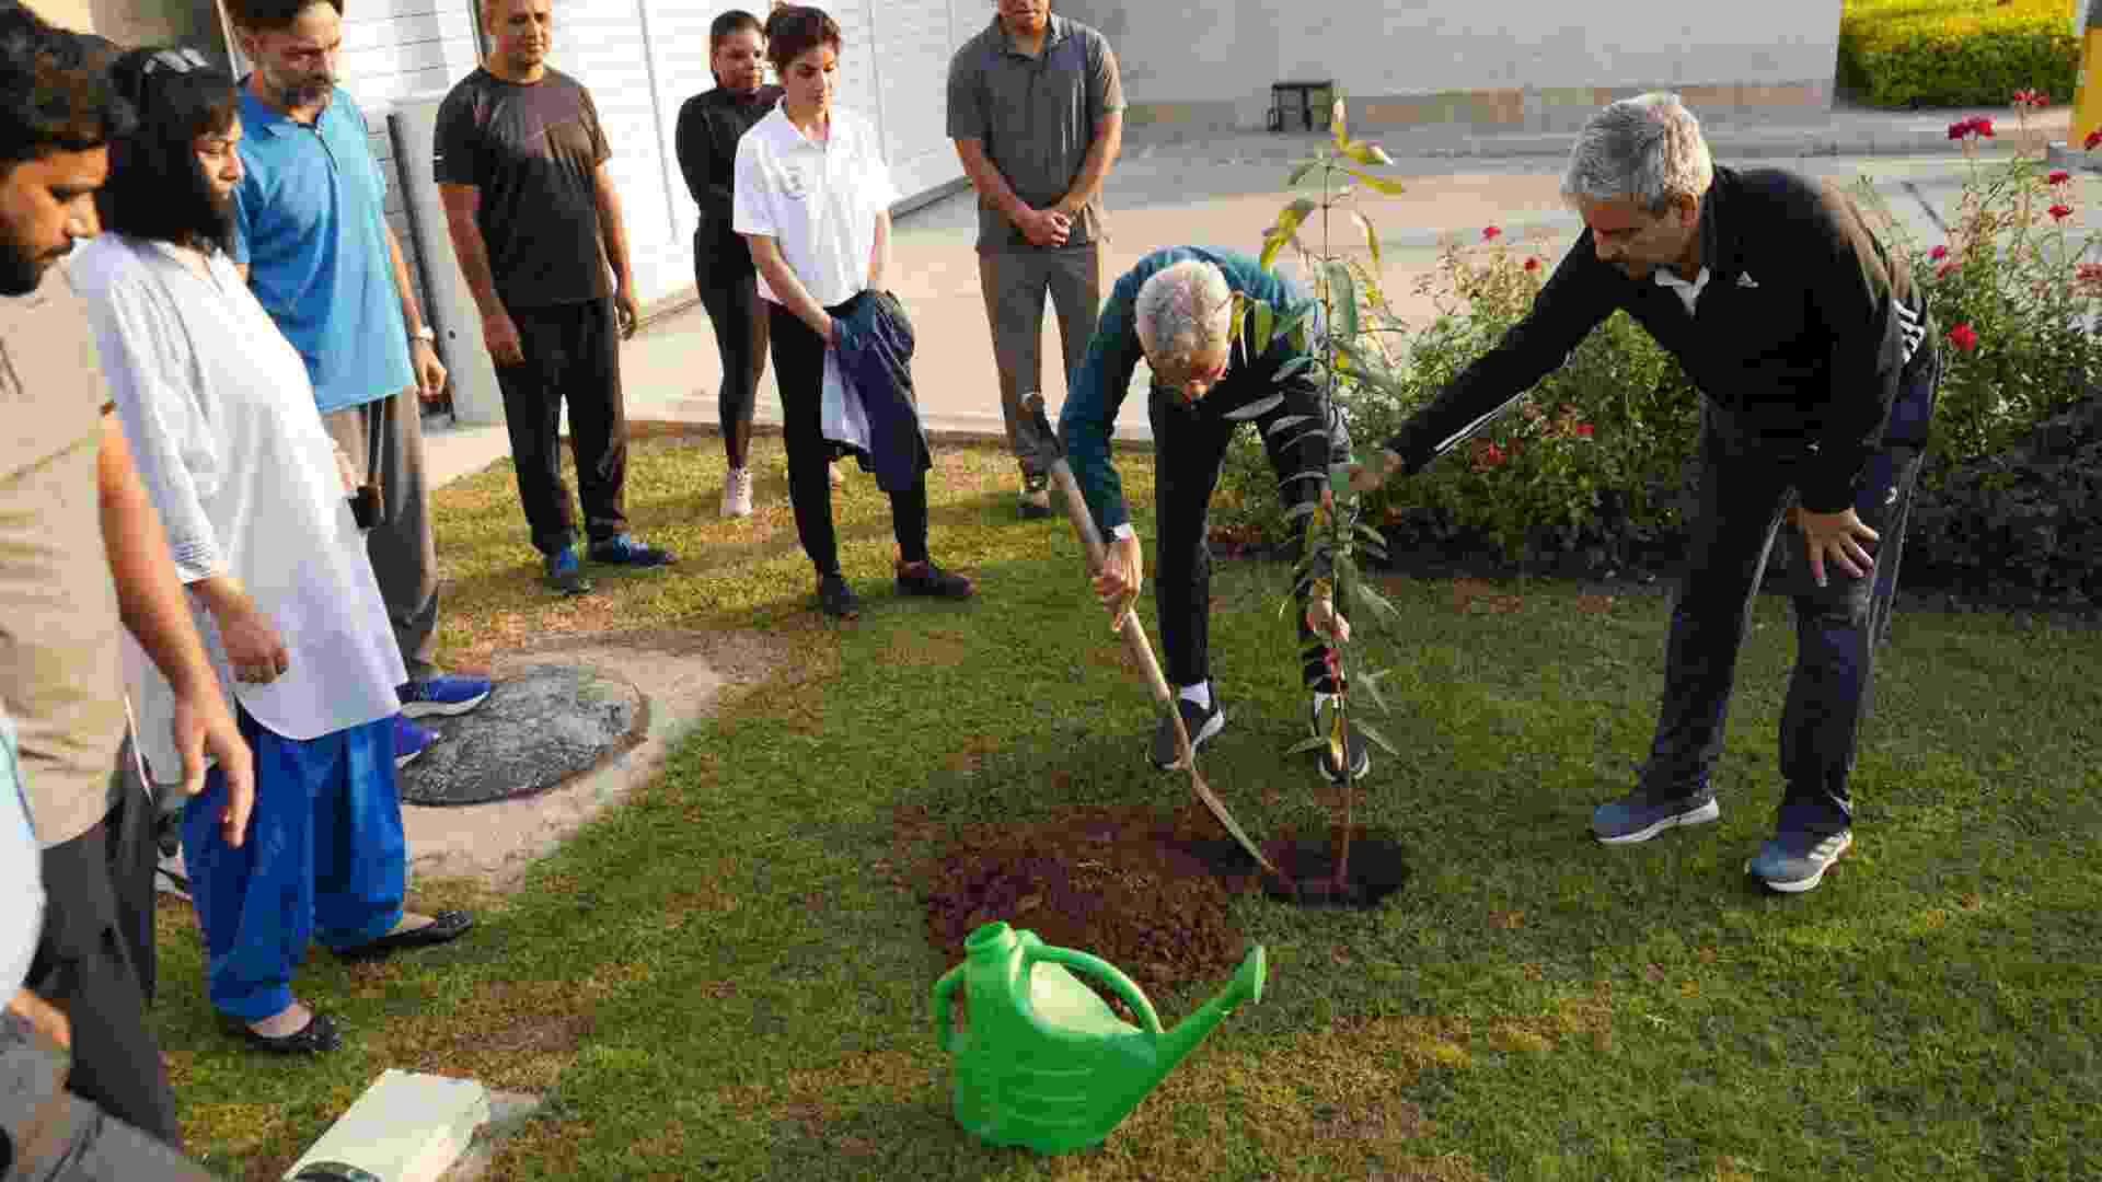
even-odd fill
[(759, 17), (729, 11), (708, 27), (708, 65), (715, 88), (679, 107), (675, 147), (685, 187), (700, 206), (694, 227), (694, 284), (700, 305), (715, 326), (715, 347), (723, 360), (723, 389), (717, 408), (723, 423), (723, 515), (753, 511), (753, 477), (746, 452), (753, 440), (753, 404), (767, 372), (767, 318), (759, 305), (753, 252), (729, 229), (731, 175), (738, 139), (780, 101), (782, 88), (765, 84), (765, 34)]

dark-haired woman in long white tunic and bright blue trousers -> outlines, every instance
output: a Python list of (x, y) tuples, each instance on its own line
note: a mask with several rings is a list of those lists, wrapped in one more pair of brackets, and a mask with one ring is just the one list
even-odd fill
[[(406, 673), (307, 366), (223, 250), (242, 177), (233, 80), (193, 50), (126, 55), (116, 80), (139, 97), (139, 130), (111, 145), (105, 233), (71, 276), (256, 766), (244, 845), (214, 824), (217, 772), (185, 810), (208, 993), (265, 1049), (332, 1049), (334, 1024), (292, 995), (309, 938), (372, 953), (458, 936), (469, 917), (401, 911), (391, 719)], [(145, 660), (130, 681), (149, 770), (172, 776), (172, 692)]]

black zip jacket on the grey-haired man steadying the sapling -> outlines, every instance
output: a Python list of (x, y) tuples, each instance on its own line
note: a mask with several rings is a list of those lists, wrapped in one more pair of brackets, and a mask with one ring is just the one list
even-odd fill
[(1677, 292), (1600, 261), (1585, 229), (1532, 311), (1387, 448), (1419, 471), (1486, 427), (1625, 309), (1669, 349), (1703, 395), (1755, 435), (1806, 452), (1804, 507), (1837, 513), (1871, 452), (1925, 444), (1925, 423), (1892, 423), (1900, 372), (1932, 337), (1911, 269), (1875, 238), (1850, 196), (1785, 168), (1715, 168), (1701, 202), (1709, 282), (1698, 313)]

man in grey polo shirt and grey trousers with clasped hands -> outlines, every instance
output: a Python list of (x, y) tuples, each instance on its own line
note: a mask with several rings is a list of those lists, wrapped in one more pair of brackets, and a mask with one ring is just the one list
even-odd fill
[(1125, 137), (1116, 55), (1051, 0), (998, 0), (986, 32), (948, 65), (948, 137), (977, 189), (977, 280), (1001, 366), (1007, 444), (1022, 465), (1022, 515), (1049, 517), (1040, 444), (1022, 398), (1043, 389), (1045, 292), (1057, 307), (1068, 381), (1101, 307), (1101, 181)]

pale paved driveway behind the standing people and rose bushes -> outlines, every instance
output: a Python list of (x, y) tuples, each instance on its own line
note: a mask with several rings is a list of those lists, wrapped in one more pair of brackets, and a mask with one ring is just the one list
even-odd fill
[[(1961, 189), (1970, 168), (1949, 141), (1949, 122), (1974, 111), (1854, 111), (1839, 109), (1818, 124), (1711, 124), (1715, 158), (1787, 162), (1833, 179), (1871, 177), (1877, 193), (1921, 240), (1938, 240), (1938, 215)], [(1991, 114), (1999, 126), (1993, 154), (2005, 154), (2018, 135), (2010, 111)], [(2041, 111), (2028, 120), (2028, 145), (2064, 139), (2068, 111)], [(1383, 135), (1396, 156), (1385, 172), (1406, 191), (1364, 196), (1362, 210), (1381, 236), (1381, 278), (1396, 311), (1410, 322), (1436, 315), (1415, 282), (1436, 269), (1446, 242), (1478, 242), (1486, 225), (1503, 231), (1511, 250), (1539, 250), (1553, 261), (1581, 229), (1560, 198), (1560, 168), (1572, 137), (1455, 130)], [(1307, 135), (1242, 135), (1207, 141), (1135, 143), (1110, 177), (1106, 204), (1110, 231), (1106, 271), (1114, 282), (1148, 250), (1179, 242), (1257, 248), (1261, 231), (1284, 204), (1291, 162), (1326, 143)], [(1354, 231), (1339, 233), (1352, 238)], [(975, 208), (969, 191), (944, 198), (898, 221), (889, 286), (919, 328), (921, 410), (944, 437), (998, 437), (1001, 410), (977, 288), (973, 252)], [(1366, 250), (1356, 248), (1360, 259)], [(1064, 400), (1057, 372), (1057, 322), (1045, 318), (1045, 398)], [(652, 322), (622, 351), (622, 385), (635, 423), (717, 425), (715, 391), (721, 381), (708, 318), (689, 307)], [(1143, 381), (1143, 372), (1139, 376)], [(780, 398), (771, 372), (759, 391), (759, 423), (778, 425)], [(1118, 435), (1148, 437), (1143, 385), (1125, 402)], [(500, 427), (444, 429), (427, 435), (429, 467), (441, 484), (479, 471), (509, 454)]]

